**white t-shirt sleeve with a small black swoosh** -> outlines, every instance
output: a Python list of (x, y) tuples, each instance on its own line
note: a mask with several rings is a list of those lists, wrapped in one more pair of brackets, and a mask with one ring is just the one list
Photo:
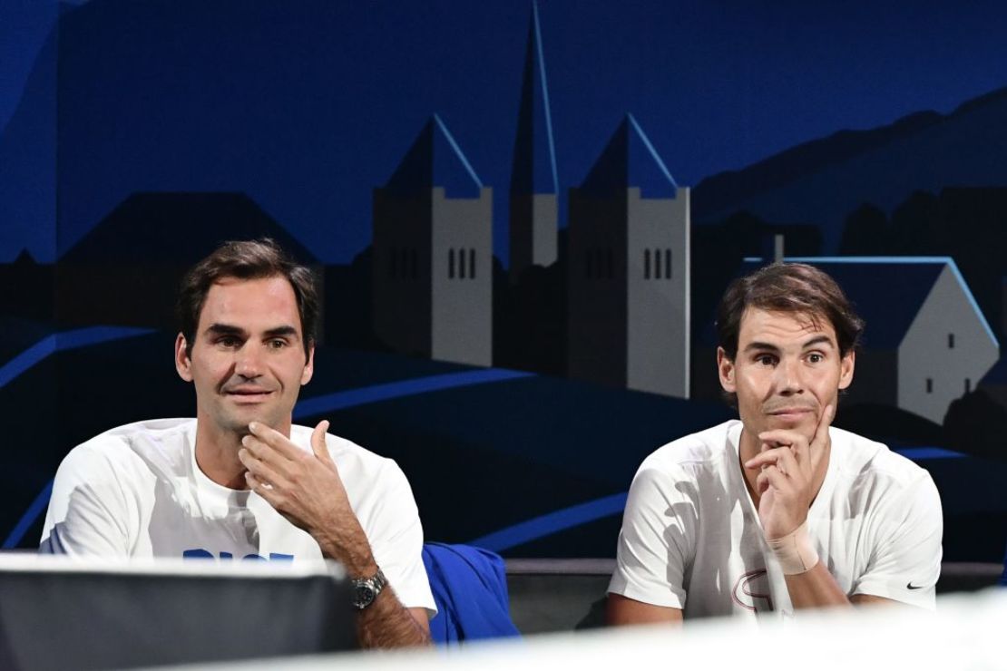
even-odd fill
[[(891, 492), (890, 494), (895, 494)], [(925, 471), (875, 512), (874, 547), (851, 594), (933, 609), (941, 574), (941, 497)]]

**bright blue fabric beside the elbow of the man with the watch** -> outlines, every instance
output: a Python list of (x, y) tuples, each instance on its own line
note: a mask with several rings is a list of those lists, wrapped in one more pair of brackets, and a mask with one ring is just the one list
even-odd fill
[(521, 636), (511, 620), (503, 559), (471, 545), (426, 543), (423, 564), (437, 604), (435, 643)]

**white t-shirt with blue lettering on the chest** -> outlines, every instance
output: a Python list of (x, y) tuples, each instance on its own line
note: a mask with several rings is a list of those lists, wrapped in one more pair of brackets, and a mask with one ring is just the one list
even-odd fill
[[(311, 450), (311, 429), (291, 427)], [(399, 601), (436, 612), (423, 528), (405, 474), (391, 459), (325, 436), (349, 504)], [(63, 459), (45, 515), (42, 552), (91, 556), (321, 560), (318, 543), (254, 492), (211, 481), (195, 463), (195, 420), (113, 429)]]

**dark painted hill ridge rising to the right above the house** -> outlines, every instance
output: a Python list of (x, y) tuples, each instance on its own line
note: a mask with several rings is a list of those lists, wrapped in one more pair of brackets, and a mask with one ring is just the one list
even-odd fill
[(775, 222), (822, 226), (835, 254), (844, 220), (862, 203), (891, 212), (918, 190), (1007, 185), (1007, 89), (949, 115), (922, 112), (869, 131), (841, 131), (743, 170), (700, 182), (697, 222), (747, 210)]

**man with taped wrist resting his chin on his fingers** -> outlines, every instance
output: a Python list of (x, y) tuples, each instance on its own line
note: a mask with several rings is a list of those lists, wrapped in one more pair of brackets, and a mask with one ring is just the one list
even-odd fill
[(640, 465), (610, 624), (874, 602), (933, 608), (943, 521), (929, 475), (830, 427), (862, 330), (835, 281), (812, 266), (773, 264), (728, 288), (717, 369), (740, 421)]

